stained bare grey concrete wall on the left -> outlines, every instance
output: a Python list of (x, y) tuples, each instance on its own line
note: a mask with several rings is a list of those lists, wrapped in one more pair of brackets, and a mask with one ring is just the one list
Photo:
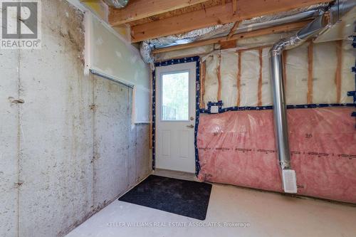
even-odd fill
[(83, 74), (83, 13), (42, 9), (41, 50), (0, 50), (1, 237), (63, 236), (150, 173), (132, 89)]

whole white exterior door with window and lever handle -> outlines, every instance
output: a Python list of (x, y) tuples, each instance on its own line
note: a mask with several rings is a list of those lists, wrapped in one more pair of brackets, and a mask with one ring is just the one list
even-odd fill
[(196, 62), (156, 69), (156, 167), (195, 172)]

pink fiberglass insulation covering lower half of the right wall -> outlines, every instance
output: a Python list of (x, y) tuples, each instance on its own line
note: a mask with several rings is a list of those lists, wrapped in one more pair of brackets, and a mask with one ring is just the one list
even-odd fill
[[(356, 203), (356, 130), (352, 108), (288, 110), (292, 169), (298, 194)], [(273, 111), (202, 114), (201, 181), (283, 191)]]

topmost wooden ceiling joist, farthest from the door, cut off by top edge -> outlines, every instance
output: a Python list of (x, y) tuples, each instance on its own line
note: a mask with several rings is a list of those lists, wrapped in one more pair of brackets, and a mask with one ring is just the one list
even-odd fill
[(112, 26), (137, 21), (168, 11), (182, 9), (187, 6), (201, 4), (208, 0), (135, 0), (130, 1), (125, 8), (110, 9), (109, 22)]

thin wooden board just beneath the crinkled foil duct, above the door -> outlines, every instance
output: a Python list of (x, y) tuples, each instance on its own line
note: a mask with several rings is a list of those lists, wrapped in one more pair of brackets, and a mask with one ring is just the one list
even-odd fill
[[(285, 31), (294, 31), (298, 30), (300, 28), (303, 28), (306, 26), (310, 21), (300, 21), (296, 23), (288, 23), (282, 26), (274, 26), (271, 28), (263, 28), (261, 30), (256, 30), (256, 31), (249, 31), (246, 33), (236, 33), (234, 34), (230, 40), (238, 40), (241, 38), (251, 38), (251, 37), (256, 37), (256, 36), (264, 36), (268, 35), (271, 33), (280, 33), (280, 32), (285, 32)], [(169, 52), (169, 51), (177, 51), (181, 50), (184, 48), (194, 48), (198, 46), (206, 46), (208, 44), (213, 44), (213, 43), (221, 43), (226, 41), (226, 36), (224, 37), (219, 37), (219, 38), (210, 38), (207, 40), (203, 41), (196, 41), (193, 43), (186, 43), (186, 44), (181, 44), (179, 46), (171, 46), (171, 47), (166, 47), (166, 48), (157, 48), (153, 51), (153, 53), (164, 53), (164, 52)]]

